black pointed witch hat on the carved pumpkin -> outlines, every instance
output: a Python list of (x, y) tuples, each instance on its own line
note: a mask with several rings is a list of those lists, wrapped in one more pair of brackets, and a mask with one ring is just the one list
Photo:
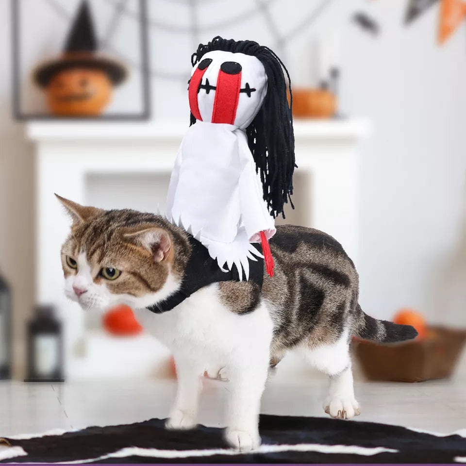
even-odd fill
[(83, 0), (67, 35), (63, 55), (40, 65), (34, 72), (34, 81), (47, 87), (57, 73), (70, 68), (100, 69), (114, 85), (125, 80), (126, 68), (115, 60), (97, 55), (97, 38), (87, 0)]

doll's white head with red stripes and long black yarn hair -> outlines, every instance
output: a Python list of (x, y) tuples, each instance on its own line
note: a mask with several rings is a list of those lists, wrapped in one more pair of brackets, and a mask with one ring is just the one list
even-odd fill
[(257, 42), (217, 36), (199, 45), (191, 63), (191, 124), (230, 123), (246, 131), (269, 212), (284, 218), (283, 204), (293, 194), (295, 148), (293, 96), (282, 61)]

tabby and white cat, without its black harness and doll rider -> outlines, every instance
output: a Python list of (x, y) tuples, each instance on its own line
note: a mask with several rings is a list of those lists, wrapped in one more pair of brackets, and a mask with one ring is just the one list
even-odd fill
[(262, 290), (253, 282), (214, 283), (173, 310), (154, 314), (147, 307), (180, 287), (191, 254), (187, 233), (161, 216), (58, 199), (73, 219), (61, 250), (67, 297), (89, 310), (130, 305), (174, 355), (178, 392), (168, 428), (196, 425), (206, 371), (229, 380), (227, 441), (240, 450), (256, 448), (268, 369), (289, 350), (328, 374), (325, 412), (349, 419), (359, 414), (351, 335), (395, 342), (417, 334), (413, 327), (364, 314), (358, 274), (341, 245), (325, 233), (291, 225), (279, 226), (270, 240), (275, 273), (264, 272)]

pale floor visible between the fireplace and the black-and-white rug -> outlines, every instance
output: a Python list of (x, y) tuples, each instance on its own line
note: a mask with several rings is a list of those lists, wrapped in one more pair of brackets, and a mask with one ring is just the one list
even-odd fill
[[(2, 382), (0, 436), (166, 417), (175, 385), (172, 380), (155, 379), (63, 384)], [(414, 384), (356, 381), (356, 398), (362, 407), (357, 420), (443, 433), (466, 429), (465, 385), (463, 376)], [(321, 407), (325, 388), (326, 382), (320, 377), (295, 379), (286, 371), (277, 374), (267, 385), (262, 412), (326, 416)], [(222, 425), (227, 391), (228, 383), (204, 381), (201, 423)]]

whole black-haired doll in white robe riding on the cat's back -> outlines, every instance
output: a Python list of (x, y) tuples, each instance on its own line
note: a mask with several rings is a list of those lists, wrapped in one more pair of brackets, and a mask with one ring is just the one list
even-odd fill
[(191, 62), (191, 126), (171, 174), (167, 216), (193, 233), (223, 272), (234, 264), (239, 280), (248, 280), (250, 261), (264, 257), (272, 276), (273, 219), (284, 217), (293, 193), (288, 72), (269, 48), (221, 37), (200, 44)]

